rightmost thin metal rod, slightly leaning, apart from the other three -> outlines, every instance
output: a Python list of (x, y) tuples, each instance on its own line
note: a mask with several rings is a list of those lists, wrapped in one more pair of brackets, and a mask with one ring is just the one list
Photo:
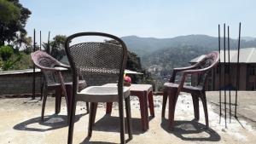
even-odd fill
[(239, 89), (240, 82), (240, 65), (239, 65), (239, 57), (240, 57), (240, 39), (241, 39), (241, 22), (239, 23), (239, 36), (238, 36), (238, 48), (237, 48), (237, 63), (236, 63), (236, 104), (235, 104), (235, 118), (236, 108), (237, 108), (237, 90)]

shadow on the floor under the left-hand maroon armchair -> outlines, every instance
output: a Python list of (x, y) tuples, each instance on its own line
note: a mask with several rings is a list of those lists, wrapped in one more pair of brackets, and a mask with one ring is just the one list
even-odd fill
[[(78, 114), (75, 117), (75, 122), (78, 122), (84, 114)], [(20, 124), (16, 124), (13, 129), (15, 130), (27, 130), (27, 131), (49, 131), (56, 130), (68, 126), (67, 124), (67, 115), (50, 115), (44, 116), (44, 121), (41, 120), (41, 117), (31, 118)]]

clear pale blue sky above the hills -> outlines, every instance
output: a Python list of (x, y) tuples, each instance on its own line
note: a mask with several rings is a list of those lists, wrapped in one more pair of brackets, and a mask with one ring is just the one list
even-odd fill
[[(256, 37), (255, 0), (20, 0), (32, 11), (26, 30), (57, 34), (108, 32), (118, 37), (218, 36), (218, 24), (231, 37)], [(37, 34), (38, 36), (38, 34)]]

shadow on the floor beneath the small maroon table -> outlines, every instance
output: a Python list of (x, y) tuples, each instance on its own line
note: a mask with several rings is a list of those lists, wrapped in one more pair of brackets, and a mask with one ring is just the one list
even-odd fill
[[(149, 118), (148, 120), (151, 120), (151, 119), (152, 118)], [(143, 131), (141, 118), (131, 118), (131, 124), (132, 124), (133, 135), (139, 135), (146, 132), (146, 131)], [(114, 117), (106, 114), (104, 115), (104, 117), (96, 121), (96, 123), (93, 125), (93, 130), (119, 132), (119, 117)], [(126, 118), (125, 118), (125, 133), (127, 134)], [(92, 135), (93, 135), (93, 131), (92, 131)]]

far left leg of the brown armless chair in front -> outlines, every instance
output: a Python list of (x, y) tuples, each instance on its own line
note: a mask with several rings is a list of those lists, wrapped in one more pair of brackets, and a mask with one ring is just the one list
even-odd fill
[(90, 116), (89, 116), (89, 127), (88, 127), (88, 137), (91, 136), (92, 134), (92, 126), (95, 122), (96, 118), (96, 108), (97, 108), (97, 103), (96, 102), (91, 102), (90, 103)]

